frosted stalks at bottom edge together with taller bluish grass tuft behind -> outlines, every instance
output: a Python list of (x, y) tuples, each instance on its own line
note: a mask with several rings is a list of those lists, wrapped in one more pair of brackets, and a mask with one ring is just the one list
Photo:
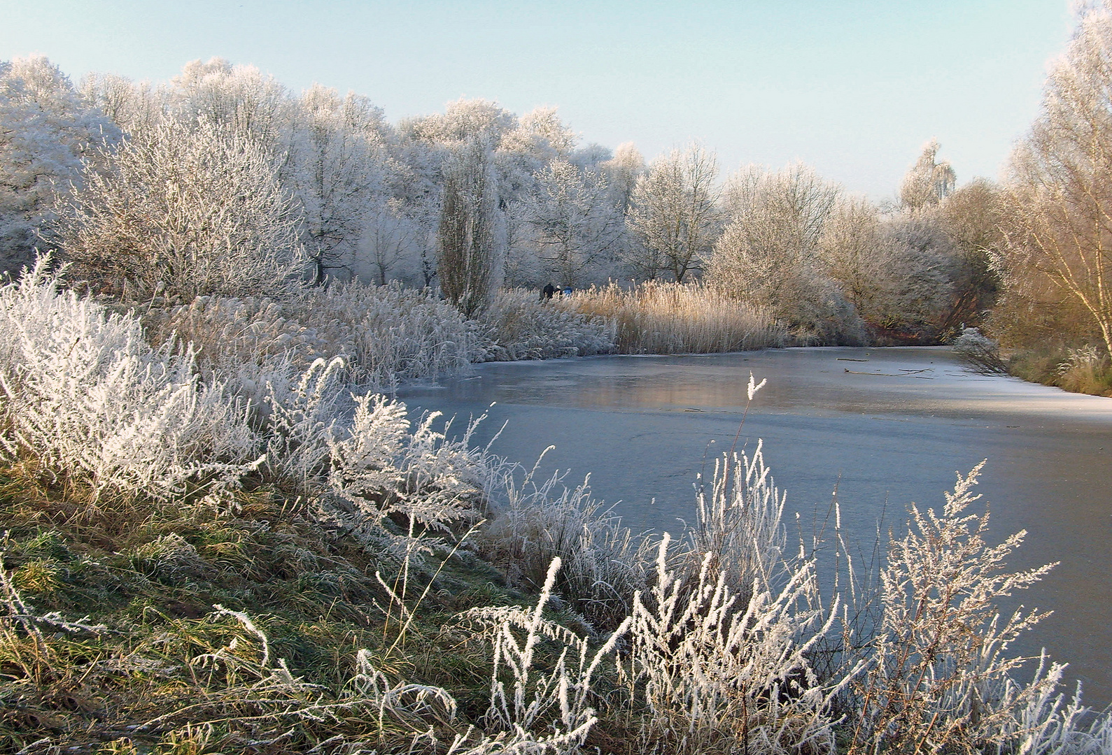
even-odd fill
[[(751, 400), (762, 385), (751, 376)], [(831, 709), (858, 670), (821, 680), (811, 665), (838, 604), (822, 606), (814, 560), (785, 553), (785, 500), (761, 446), (724, 457), (697, 503), (691, 550), (669, 553), (665, 534), (633, 600), (620, 671), (647, 709), (643, 738), (669, 752), (833, 752)]]

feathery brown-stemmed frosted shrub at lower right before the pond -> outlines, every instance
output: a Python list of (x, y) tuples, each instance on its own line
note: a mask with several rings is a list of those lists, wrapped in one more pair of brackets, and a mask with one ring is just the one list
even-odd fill
[(941, 514), (912, 506), (910, 531), (890, 543), (870, 665), (853, 686), (851, 752), (1041, 752), (1023, 742), (1032, 727), (1058, 716), (1059, 703), (1048, 701), (1061, 665), (1040, 664), (1026, 684), (1012, 678), (1026, 658), (1010, 647), (1043, 614), (1020, 610), (1001, 617), (995, 606), (1052, 565), (1003, 571), (1025, 533), (985, 543), (989, 515), (966, 513), (980, 497), (972, 489), (982, 465), (957, 475)]

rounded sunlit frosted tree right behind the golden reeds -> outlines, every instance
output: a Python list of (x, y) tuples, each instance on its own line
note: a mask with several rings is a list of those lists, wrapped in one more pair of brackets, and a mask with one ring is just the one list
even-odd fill
[(653, 161), (637, 179), (626, 220), (643, 253), (628, 262), (645, 278), (671, 273), (677, 283), (698, 271), (719, 232), (718, 161), (693, 144)]

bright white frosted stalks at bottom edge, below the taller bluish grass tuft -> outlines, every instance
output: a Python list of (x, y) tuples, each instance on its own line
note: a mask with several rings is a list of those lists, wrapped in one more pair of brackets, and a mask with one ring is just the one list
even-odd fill
[(833, 752), (831, 706), (808, 651), (830, 631), (811, 561), (784, 564), (777, 587), (755, 578), (744, 597), (713, 553), (694, 578), (667, 564), (659, 545), (652, 590), (634, 596), (631, 650), (622, 672), (647, 708), (642, 737), (658, 751)]

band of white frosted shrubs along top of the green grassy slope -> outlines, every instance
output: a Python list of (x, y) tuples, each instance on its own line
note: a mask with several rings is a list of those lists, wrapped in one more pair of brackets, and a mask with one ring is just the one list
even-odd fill
[(9, 460), (82, 481), (93, 501), (220, 492), (261, 475), (367, 538), (393, 513), (420, 530), (471, 514), (489, 476), (486, 452), (470, 447), (474, 426), (458, 441), (434, 429), (438, 415), (411, 429), (404, 404), (353, 395), (340, 358), (299, 366), (284, 354), (257, 364), (252, 394), (238, 395), (216, 374), (202, 380), (191, 345), (149, 345), (136, 316), (60, 290), (48, 264), (0, 288)]

